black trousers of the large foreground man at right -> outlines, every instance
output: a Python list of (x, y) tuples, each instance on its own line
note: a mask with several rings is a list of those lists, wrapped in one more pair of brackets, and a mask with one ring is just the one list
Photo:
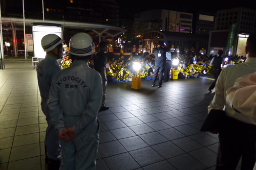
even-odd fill
[[(242, 114), (242, 113), (241, 113)], [(226, 116), (219, 131), (216, 169), (235, 170), (242, 156), (241, 170), (253, 169), (256, 126)]]

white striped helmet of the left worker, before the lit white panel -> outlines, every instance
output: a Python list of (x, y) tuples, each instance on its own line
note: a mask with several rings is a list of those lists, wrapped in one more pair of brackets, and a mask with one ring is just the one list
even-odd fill
[(56, 46), (58, 46), (62, 42), (63, 40), (55, 34), (45, 35), (41, 39), (41, 45), (45, 52), (52, 51)]

